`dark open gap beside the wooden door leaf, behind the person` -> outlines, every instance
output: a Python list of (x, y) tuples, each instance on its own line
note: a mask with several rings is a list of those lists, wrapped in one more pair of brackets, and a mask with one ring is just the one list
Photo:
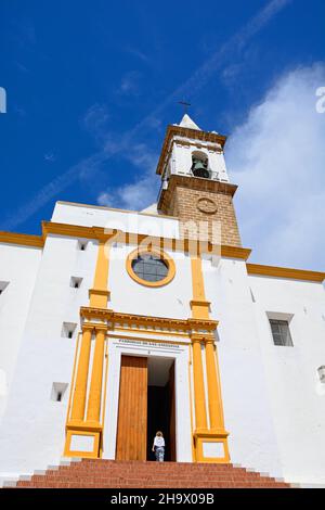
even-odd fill
[(148, 358), (147, 385), (147, 460), (157, 431), (164, 434), (165, 460), (176, 461), (174, 361), (170, 358)]

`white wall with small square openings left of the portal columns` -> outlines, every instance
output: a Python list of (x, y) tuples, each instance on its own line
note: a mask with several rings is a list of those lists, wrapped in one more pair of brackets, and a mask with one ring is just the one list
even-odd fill
[[(96, 256), (95, 242), (81, 252), (76, 239), (47, 239), (0, 428), (0, 474), (28, 473), (60, 461), (69, 386), (61, 403), (51, 400), (51, 390), (53, 382), (70, 384), (77, 341), (76, 335), (62, 337), (62, 324), (79, 324)], [(72, 276), (83, 278), (80, 289), (69, 286)]]

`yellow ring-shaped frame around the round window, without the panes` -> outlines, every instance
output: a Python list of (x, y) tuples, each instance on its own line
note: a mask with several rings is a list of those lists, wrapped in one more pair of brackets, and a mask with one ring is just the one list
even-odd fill
[[(139, 256), (144, 255), (146, 253), (150, 253), (152, 255), (155, 255), (156, 257), (161, 258), (164, 263), (166, 264), (168, 272), (167, 272), (167, 276), (162, 278), (162, 280), (159, 280), (159, 281), (143, 280), (133, 271), (132, 263), (134, 258), (138, 258)], [(167, 285), (168, 283), (171, 282), (171, 280), (174, 278), (174, 275), (176, 275), (176, 265), (174, 265), (173, 259), (166, 252), (164, 252), (162, 250), (158, 250), (158, 248), (138, 247), (133, 250), (131, 253), (129, 253), (127, 257), (126, 266), (127, 266), (128, 275), (130, 278), (132, 278), (133, 281), (135, 281), (140, 285), (150, 286), (153, 289)]]

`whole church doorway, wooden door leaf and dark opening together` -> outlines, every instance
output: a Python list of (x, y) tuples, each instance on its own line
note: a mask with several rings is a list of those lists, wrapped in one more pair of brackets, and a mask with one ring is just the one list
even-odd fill
[(154, 437), (161, 431), (166, 461), (176, 461), (174, 360), (121, 356), (117, 460), (155, 460)]

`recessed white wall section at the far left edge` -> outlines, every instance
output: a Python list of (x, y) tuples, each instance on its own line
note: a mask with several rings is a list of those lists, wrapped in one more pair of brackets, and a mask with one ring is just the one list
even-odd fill
[(0, 423), (27, 319), (41, 250), (0, 244), (0, 281), (9, 285), (0, 295)]

